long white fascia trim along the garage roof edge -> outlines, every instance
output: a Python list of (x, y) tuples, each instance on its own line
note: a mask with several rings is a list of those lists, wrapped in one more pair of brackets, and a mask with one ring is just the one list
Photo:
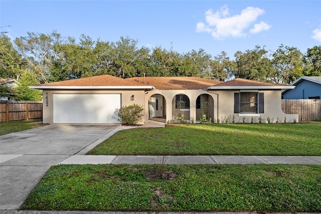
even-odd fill
[(29, 85), (34, 89), (155, 89), (154, 86), (53, 86)]

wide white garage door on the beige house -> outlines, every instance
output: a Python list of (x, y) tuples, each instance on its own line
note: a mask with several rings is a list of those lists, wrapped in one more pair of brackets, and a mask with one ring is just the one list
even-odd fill
[(119, 123), (120, 94), (62, 94), (54, 98), (54, 123)]

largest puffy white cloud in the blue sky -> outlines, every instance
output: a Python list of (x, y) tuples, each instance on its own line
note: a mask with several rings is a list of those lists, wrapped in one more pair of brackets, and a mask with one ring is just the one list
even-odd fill
[[(196, 31), (210, 33), (215, 39), (245, 37), (248, 34), (246, 30), (253, 25), (258, 16), (264, 13), (265, 11), (262, 9), (247, 7), (241, 11), (241, 14), (230, 16), (229, 9), (225, 5), (216, 13), (208, 10), (205, 13), (206, 24), (203, 22), (197, 23)], [(251, 33), (268, 30), (270, 27), (268, 24), (261, 22), (254, 25)]]

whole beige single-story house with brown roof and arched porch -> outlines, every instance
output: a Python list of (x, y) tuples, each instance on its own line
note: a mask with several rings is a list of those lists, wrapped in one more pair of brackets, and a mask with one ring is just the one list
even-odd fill
[(132, 77), (100, 75), (81, 79), (32, 85), (43, 90), (43, 123), (119, 123), (117, 109), (139, 104), (144, 109), (141, 123), (161, 118), (175, 120), (177, 101), (183, 100), (187, 121), (200, 121), (201, 105), (209, 103), (212, 122), (228, 118), (232, 123), (266, 122), (284, 117), (298, 121), (298, 115), (281, 110), (281, 90), (295, 86), (236, 78), (221, 82), (199, 77)]

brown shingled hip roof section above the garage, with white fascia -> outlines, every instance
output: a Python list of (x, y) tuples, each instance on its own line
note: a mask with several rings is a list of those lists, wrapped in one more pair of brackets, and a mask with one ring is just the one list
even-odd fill
[(130, 81), (108, 74), (100, 76), (84, 77), (59, 82), (31, 85), (37, 89), (153, 89), (151, 85)]

